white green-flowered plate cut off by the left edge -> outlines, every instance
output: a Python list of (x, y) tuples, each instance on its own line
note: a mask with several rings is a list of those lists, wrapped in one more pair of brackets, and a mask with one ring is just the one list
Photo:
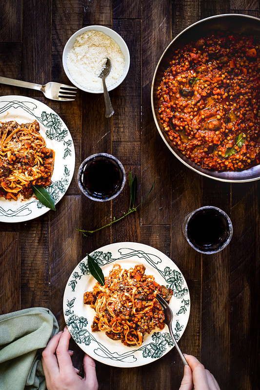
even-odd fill
[[(0, 122), (40, 123), (40, 134), (55, 151), (52, 184), (46, 189), (57, 204), (68, 189), (75, 168), (75, 150), (70, 132), (58, 114), (46, 104), (25, 96), (0, 97)], [(0, 222), (23, 222), (49, 211), (35, 197), (28, 200), (0, 198)]]

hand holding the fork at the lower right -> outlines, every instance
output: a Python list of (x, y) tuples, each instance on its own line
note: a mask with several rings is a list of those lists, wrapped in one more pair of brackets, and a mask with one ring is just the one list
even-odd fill
[(185, 355), (189, 366), (184, 366), (180, 390), (220, 390), (214, 376), (204, 368), (196, 357)]

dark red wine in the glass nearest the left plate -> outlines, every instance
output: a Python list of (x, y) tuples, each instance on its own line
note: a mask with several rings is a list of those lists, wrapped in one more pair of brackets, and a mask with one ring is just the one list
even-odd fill
[(107, 199), (116, 194), (122, 183), (120, 168), (112, 159), (99, 157), (82, 167), (80, 184), (94, 198)]

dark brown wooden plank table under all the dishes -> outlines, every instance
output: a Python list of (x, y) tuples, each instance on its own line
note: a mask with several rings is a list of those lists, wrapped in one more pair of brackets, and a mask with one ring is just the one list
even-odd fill
[[(205, 17), (242, 13), (259, 17), (257, 0), (8, 0), (1, 5), (0, 74), (25, 81), (69, 83), (62, 68), (68, 38), (85, 25), (113, 28), (126, 41), (131, 64), (110, 93), (115, 114), (105, 119), (102, 95), (78, 91), (59, 103), (40, 92), (0, 85), (1, 95), (24, 95), (55, 110), (76, 150), (72, 183), (57, 211), (24, 223), (0, 223), (0, 312), (48, 307), (64, 326), (62, 297), (74, 267), (103, 245), (133, 241), (158, 248), (182, 271), (191, 313), (180, 348), (214, 373), (221, 390), (256, 390), (259, 383), (260, 182), (215, 182), (181, 164), (160, 139), (152, 117), (153, 72), (168, 43)], [(138, 177), (138, 200), (157, 179), (137, 212), (84, 238), (76, 228), (96, 228), (128, 209), (129, 188), (100, 204), (81, 195), (80, 162), (96, 152), (120, 159)], [(193, 250), (181, 232), (187, 212), (216, 205), (231, 217), (234, 235), (217, 255)], [(76, 357), (80, 349), (76, 350)], [(77, 363), (76, 363), (77, 364)], [(140, 368), (97, 362), (100, 389), (179, 389), (183, 367), (176, 349)]]

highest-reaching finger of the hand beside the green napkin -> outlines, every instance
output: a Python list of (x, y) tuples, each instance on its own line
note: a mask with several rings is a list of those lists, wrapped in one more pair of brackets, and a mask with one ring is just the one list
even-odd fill
[(62, 334), (60, 335), (60, 342), (56, 349), (56, 355), (60, 367), (61, 374), (72, 374), (75, 370), (72, 365), (69, 349), (70, 332), (65, 327)]

